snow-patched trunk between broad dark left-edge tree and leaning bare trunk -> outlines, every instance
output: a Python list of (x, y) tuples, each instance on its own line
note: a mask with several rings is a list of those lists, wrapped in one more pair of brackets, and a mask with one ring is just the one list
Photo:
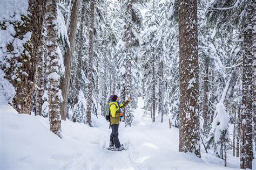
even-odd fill
[(48, 48), (47, 55), (49, 56), (49, 118), (50, 130), (62, 138), (62, 130), (60, 127), (60, 100), (62, 93), (59, 89), (60, 73), (59, 73), (59, 52), (58, 34), (57, 34), (57, 1), (46, 1), (46, 25), (47, 37), (46, 46)]

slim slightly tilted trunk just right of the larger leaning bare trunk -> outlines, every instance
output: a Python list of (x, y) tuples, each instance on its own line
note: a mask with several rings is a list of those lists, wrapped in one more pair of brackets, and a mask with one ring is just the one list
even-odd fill
[(73, 101), (73, 105), (77, 104), (78, 102), (78, 93), (80, 90), (79, 86), (79, 81), (81, 79), (81, 70), (82, 70), (82, 55), (83, 55), (83, 42), (84, 42), (84, 24), (85, 24), (85, 10), (86, 10), (86, 5), (85, 1), (82, 3), (82, 12), (81, 12), (81, 20), (80, 20), (80, 25), (79, 25), (79, 32), (78, 32), (78, 39), (79, 39), (79, 44), (78, 44), (78, 54), (77, 54), (77, 72), (76, 72), (76, 80), (75, 80), (75, 98)]

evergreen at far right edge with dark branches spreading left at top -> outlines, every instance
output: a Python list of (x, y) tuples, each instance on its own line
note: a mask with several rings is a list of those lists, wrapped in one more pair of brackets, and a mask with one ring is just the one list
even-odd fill
[[(237, 29), (239, 33), (243, 34), (243, 41), (240, 44), (240, 53), (243, 55), (243, 79), (242, 79), (242, 96), (244, 96), (244, 99), (242, 99), (242, 108), (241, 108), (241, 143), (240, 143), (240, 151), (241, 151), (241, 168), (251, 168), (251, 160), (252, 160), (252, 134), (253, 134), (253, 128), (252, 128), (252, 101), (247, 102), (245, 100), (245, 96), (251, 96), (252, 92), (246, 86), (252, 86), (252, 68), (247, 66), (251, 65), (252, 63), (252, 53), (251, 49), (248, 50), (247, 47), (252, 44), (253, 36), (251, 34), (250, 29), (252, 27), (253, 23), (253, 12), (255, 3), (253, 1), (215, 1), (210, 2), (207, 4), (207, 7), (209, 9), (208, 16), (210, 19), (218, 19), (220, 22), (218, 22), (218, 28), (219, 33), (222, 33), (223, 31), (229, 31), (233, 29)], [(214, 12), (211, 10), (215, 9)], [(233, 9), (233, 10), (231, 10)], [(225, 16), (225, 17), (224, 17)], [(235, 26), (235, 27), (234, 27)], [(250, 34), (251, 36), (248, 36)], [(238, 37), (241, 38), (241, 37)], [(250, 52), (249, 52), (250, 51)], [(248, 63), (249, 62), (249, 63)], [(246, 68), (247, 67), (247, 68)], [(246, 77), (246, 78), (245, 78)], [(250, 85), (249, 85), (250, 84)], [(247, 110), (248, 107), (248, 110)], [(248, 116), (245, 116), (246, 115)], [(246, 134), (249, 134), (250, 137), (245, 136), (245, 131), (247, 131)]]

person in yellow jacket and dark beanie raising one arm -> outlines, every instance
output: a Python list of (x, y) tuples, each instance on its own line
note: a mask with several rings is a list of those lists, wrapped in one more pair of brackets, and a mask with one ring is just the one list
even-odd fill
[(110, 126), (112, 132), (110, 134), (110, 145), (108, 150), (112, 151), (122, 151), (125, 150), (123, 144), (120, 144), (118, 139), (118, 127), (120, 123), (120, 117), (123, 116), (120, 108), (126, 107), (131, 101), (131, 97), (124, 103), (119, 102), (119, 97), (117, 95), (110, 96)]

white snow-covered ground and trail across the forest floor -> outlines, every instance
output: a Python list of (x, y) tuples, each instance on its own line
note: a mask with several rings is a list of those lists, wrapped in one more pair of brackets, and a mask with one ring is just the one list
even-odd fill
[[(120, 142), (129, 147), (122, 152), (106, 149), (111, 131), (102, 116), (93, 117), (94, 128), (62, 121), (60, 139), (49, 131), (47, 118), (19, 115), (8, 104), (0, 107), (0, 169), (230, 169), (203, 147), (202, 159), (178, 152), (179, 130), (169, 129), (167, 117), (164, 123), (144, 117), (142, 98), (132, 126), (120, 124)], [(238, 168), (239, 159), (228, 154), (227, 166)]]

